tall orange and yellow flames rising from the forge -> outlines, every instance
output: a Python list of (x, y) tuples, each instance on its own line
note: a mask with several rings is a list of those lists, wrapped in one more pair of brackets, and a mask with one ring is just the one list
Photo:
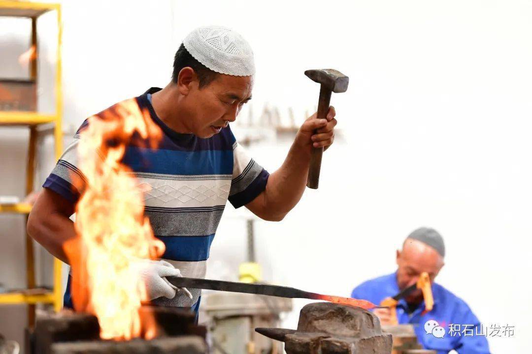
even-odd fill
[(144, 216), (143, 191), (121, 159), (132, 139), (147, 139), (147, 147), (155, 148), (162, 133), (134, 99), (88, 123), (78, 145), (79, 168), (86, 177), (76, 206), (78, 238), (65, 245), (74, 308), (98, 317), (103, 339), (153, 338), (155, 322), (139, 315), (148, 299), (135, 261), (160, 257), (164, 244), (153, 236)]

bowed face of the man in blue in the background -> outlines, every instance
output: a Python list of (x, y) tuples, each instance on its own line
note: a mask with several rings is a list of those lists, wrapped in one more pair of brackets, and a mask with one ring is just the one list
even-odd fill
[[(407, 238), (403, 244), (403, 250), (397, 251), (397, 284), (400, 290), (417, 283), (423, 272), (429, 274), (430, 282), (433, 282), (444, 265), (443, 257), (436, 249), (421, 241)], [(423, 295), (420, 289), (416, 289), (405, 297), (407, 303), (420, 303)]]

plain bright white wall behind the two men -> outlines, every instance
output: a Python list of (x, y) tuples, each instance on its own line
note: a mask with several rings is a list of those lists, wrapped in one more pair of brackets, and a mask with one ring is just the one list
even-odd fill
[[(402, 239), (431, 226), (447, 243), (438, 281), (485, 324), (516, 325), (514, 338), (489, 340), (493, 352), (525, 352), (532, 331), (532, 266), (525, 261), (532, 233), (532, 3), (324, 6), (65, 1), (65, 123), (78, 125), (115, 101), (164, 85), (182, 37), (201, 24), (227, 25), (251, 42), (257, 110), (264, 102), (297, 112), (315, 106), (317, 84), (303, 71), (338, 68), (351, 78), (349, 90), (332, 98), (345, 142), (325, 154), (318, 191), (307, 191), (281, 223), (257, 223), (266, 280), (346, 296), (361, 281), (392, 272)], [(266, 144), (252, 153), (273, 171), (288, 146)], [(244, 260), (239, 215), (228, 206), (210, 277), (236, 274)], [(296, 325), (303, 304), (296, 301), (287, 327)]]

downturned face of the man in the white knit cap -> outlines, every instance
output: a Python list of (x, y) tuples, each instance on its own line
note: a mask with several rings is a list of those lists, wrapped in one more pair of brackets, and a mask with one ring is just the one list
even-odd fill
[(202, 138), (220, 133), (235, 121), (242, 106), (251, 99), (252, 90), (253, 76), (218, 74), (201, 89), (194, 81), (186, 97), (187, 128)]

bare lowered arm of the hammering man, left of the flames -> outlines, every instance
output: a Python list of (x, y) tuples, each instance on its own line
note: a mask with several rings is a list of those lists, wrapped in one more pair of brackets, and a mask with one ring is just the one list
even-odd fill
[(74, 205), (71, 202), (43, 188), (28, 217), (28, 234), (66, 264), (69, 262), (63, 245), (76, 238), (74, 223), (69, 219), (73, 213)]

